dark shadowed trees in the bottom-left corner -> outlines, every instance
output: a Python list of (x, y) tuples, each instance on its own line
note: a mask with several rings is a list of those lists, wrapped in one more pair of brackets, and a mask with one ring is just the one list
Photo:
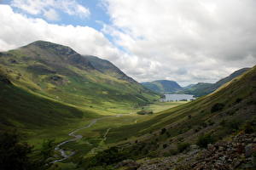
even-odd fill
[(54, 140), (46, 140), (40, 150), (20, 142), (20, 134), (15, 130), (0, 133), (1, 170), (44, 170), (53, 156)]

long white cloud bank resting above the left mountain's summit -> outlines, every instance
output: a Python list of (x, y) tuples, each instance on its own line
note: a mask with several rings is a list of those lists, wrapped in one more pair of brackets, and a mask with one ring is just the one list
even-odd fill
[(9, 5), (0, 5), (0, 51), (44, 40), (67, 45), (80, 54), (116, 59), (119, 50), (100, 31), (88, 26), (59, 26), (42, 19), (15, 13)]

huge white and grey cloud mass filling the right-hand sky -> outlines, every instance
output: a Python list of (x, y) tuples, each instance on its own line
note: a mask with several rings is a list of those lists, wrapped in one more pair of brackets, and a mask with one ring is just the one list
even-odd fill
[[(256, 64), (254, 0), (103, 0), (102, 29), (136, 62), (139, 81), (215, 82)], [(122, 67), (122, 66), (121, 66)]]

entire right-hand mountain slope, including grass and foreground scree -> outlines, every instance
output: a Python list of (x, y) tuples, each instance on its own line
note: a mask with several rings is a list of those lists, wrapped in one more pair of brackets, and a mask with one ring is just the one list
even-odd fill
[[(122, 132), (129, 132), (125, 137), (130, 140), (92, 158), (79, 160), (84, 162), (80, 166), (247, 169), (253, 166), (254, 159), (248, 150), (254, 150), (255, 146), (255, 111), (256, 65), (212, 94), (162, 111), (147, 122), (111, 129), (107, 142)], [(108, 156), (114, 161), (104, 159)], [(91, 161), (94, 163), (88, 163)]]

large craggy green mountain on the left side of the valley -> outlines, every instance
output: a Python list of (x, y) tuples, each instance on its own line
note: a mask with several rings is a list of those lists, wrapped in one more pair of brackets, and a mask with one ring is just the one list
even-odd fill
[(158, 99), (109, 61), (52, 42), (2, 52), (0, 67), (17, 87), (69, 105), (136, 106)]

